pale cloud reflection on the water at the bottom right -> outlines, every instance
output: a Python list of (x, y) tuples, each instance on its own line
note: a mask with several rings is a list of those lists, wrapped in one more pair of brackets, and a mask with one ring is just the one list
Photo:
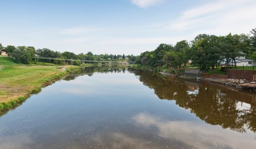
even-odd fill
[(160, 137), (176, 139), (195, 148), (253, 148), (256, 145), (251, 131), (246, 134), (193, 121), (167, 121), (145, 113), (133, 119), (143, 129), (156, 127)]

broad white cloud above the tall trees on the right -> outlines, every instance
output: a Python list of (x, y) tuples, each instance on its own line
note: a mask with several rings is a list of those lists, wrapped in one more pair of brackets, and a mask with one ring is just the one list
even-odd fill
[(255, 7), (252, 0), (219, 0), (184, 11), (167, 29), (217, 35), (249, 33), (256, 24)]

